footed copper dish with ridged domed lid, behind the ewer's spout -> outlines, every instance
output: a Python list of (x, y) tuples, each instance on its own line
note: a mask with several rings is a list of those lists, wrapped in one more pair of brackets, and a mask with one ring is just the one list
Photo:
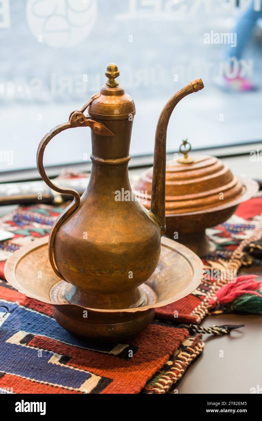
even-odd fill
[[(150, 209), (153, 168), (133, 184), (138, 200)], [(207, 256), (214, 245), (205, 230), (226, 221), (238, 205), (254, 196), (258, 183), (233, 176), (228, 166), (212, 156), (198, 156), (193, 163), (167, 161), (166, 235), (177, 239), (198, 256)]]

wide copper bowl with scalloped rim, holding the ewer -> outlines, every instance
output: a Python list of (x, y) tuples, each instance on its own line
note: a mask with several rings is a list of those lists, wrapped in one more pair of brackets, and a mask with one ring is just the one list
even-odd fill
[(93, 309), (67, 301), (65, 292), (71, 284), (53, 272), (48, 259), (48, 237), (17, 250), (6, 261), (4, 272), (6, 280), (20, 293), (51, 304), (56, 321), (66, 330), (89, 341), (119, 342), (146, 328), (156, 307), (193, 292), (203, 277), (203, 263), (185, 246), (162, 237), (159, 264), (141, 285), (145, 301), (139, 307), (125, 309)]

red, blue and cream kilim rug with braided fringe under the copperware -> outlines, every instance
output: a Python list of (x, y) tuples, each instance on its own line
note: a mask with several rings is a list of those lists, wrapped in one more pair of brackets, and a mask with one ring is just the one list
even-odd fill
[[(37, 237), (48, 235), (61, 208), (21, 207), (0, 220), (13, 232), (0, 242), (0, 390), (53, 394), (163, 394), (203, 351), (201, 335), (184, 324), (200, 323), (207, 302), (225, 284), (205, 277), (190, 296), (158, 309), (153, 323), (128, 344), (94, 345), (62, 329), (52, 307), (18, 293), (4, 280), (8, 256)], [(216, 251), (204, 267), (238, 270), (250, 264), (245, 245), (262, 237), (262, 197), (239, 206), (225, 224), (209, 230)]]

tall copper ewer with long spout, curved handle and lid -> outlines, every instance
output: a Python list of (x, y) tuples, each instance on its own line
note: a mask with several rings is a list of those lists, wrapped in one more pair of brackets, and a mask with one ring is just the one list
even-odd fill
[[(117, 192), (132, 192), (128, 178), (130, 138), (135, 116), (132, 98), (118, 86), (115, 64), (109, 64), (108, 80), (69, 121), (53, 128), (40, 142), (38, 171), (45, 183), (73, 202), (61, 213), (49, 238), (49, 259), (54, 273), (68, 282), (65, 298), (70, 304), (93, 309), (136, 308), (146, 300), (142, 285), (159, 262), (165, 226), (165, 172), (167, 125), (176, 104), (201, 90), (194, 80), (168, 101), (156, 129), (151, 209), (137, 200), (116, 200)], [(88, 108), (89, 115), (84, 115)], [(45, 147), (56, 134), (69, 128), (90, 127), (92, 170), (81, 199), (75, 190), (50, 181), (43, 166)], [(58, 309), (56, 320), (67, 321)], [(152, 318), (152, 317), (151, 317)], [(150, 320), (147, 320), (147, 324)], [(130, 323), (129, 323), (130, 325)], [(126, 329), (132, 333), (132, 326)], [(144, 327), (144, 326), (143, 326)], [(99, 324), (96, 326), (99, 331)], [(92, 337), (90, 331), (90, 337)], [(88, 332), (86, 335), (88, 337)], [(96, 335), (99, 336), (99, 335)], [(110, 336), (110, 335), (109, 335)]]

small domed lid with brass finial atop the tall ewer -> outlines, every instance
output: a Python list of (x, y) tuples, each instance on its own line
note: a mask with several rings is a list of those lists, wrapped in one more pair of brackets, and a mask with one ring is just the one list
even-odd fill
[(100, 96), (88, 108), (89, 115), (96, 120), (126, 120), (135, 115), (135, 104), (131, 96), (119, 86), (116, 77), (119, 70), (116, 64), (107, 66), (106, 85), (101, 88)]

